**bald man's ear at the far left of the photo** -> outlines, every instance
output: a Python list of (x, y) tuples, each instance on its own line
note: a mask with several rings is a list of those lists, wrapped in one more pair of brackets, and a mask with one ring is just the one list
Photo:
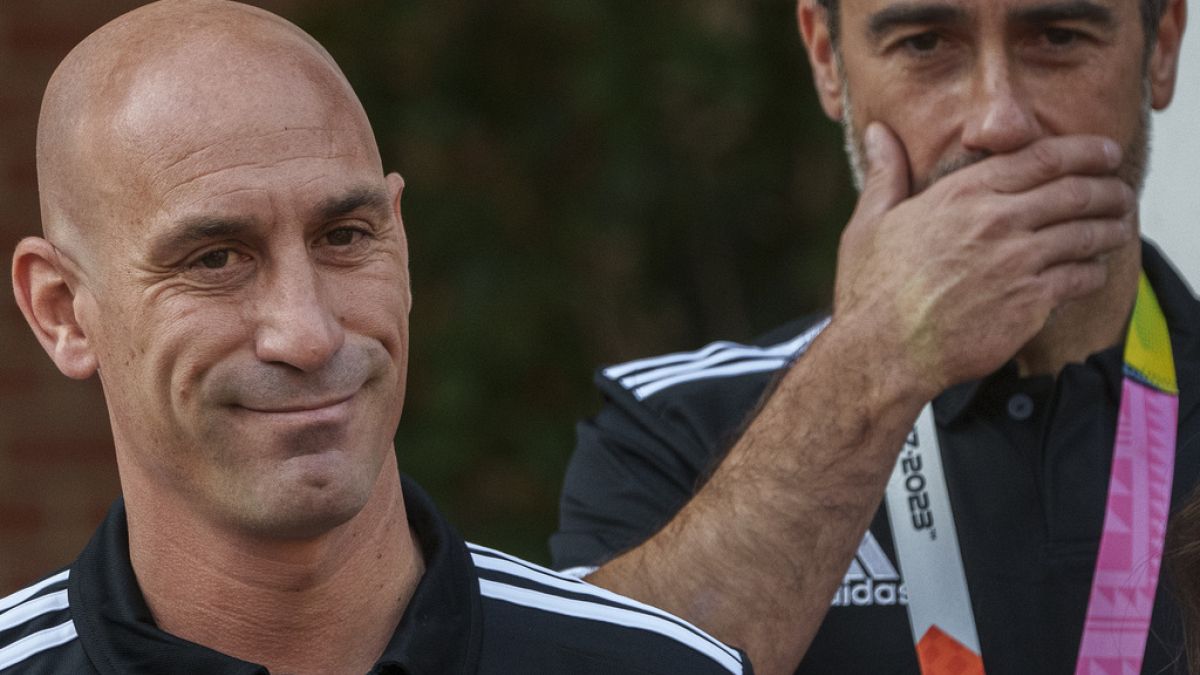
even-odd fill
[(42, 348), (67, 377), (96, 372), (96, 356), (76, 315), (73, 275), (54, 246), (40, 237), (17, 244), (12, 289)]

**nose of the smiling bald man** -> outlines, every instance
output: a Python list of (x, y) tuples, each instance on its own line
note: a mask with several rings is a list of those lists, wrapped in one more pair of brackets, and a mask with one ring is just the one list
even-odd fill
[(346, 331), (312, 261), (305, 255), (284, 262), (263, 282), (254, 336), (259, 360), (305, 372), (323, 366), (342, 347)]

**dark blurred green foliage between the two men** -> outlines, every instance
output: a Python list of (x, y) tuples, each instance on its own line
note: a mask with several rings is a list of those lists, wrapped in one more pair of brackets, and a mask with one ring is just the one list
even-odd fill
[(791, 0), (355, 0), (299, 23), (408, 181), (401, 467), (545, 560), (593, 369), (828, 304), (852, 205)]

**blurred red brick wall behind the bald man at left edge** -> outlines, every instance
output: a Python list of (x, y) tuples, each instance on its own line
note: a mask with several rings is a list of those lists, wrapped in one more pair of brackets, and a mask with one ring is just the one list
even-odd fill
[[(256, 4), (289, 16), (301, 2)], [(0, 596), (71, 562), (119, 491), (100, 384), (55, 370), (8, 270), (16, 243), (41, 228), (34, 138), (46, 82), (84, 36), (142, 4), (0, 0)]]

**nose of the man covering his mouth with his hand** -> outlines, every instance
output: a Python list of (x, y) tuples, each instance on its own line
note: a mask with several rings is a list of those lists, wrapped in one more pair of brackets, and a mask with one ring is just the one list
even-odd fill
[(971, 151), (1019, 150), (1042, 136), (1033, 101), (1003, 55), (985, 55), (976, 66), (967, 94), (962, 145)]

